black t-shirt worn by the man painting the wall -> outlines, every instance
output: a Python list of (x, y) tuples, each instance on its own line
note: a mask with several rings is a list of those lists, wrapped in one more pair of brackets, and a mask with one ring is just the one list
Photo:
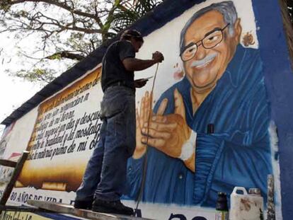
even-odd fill
[(102, 67), (102, 89), (110, 84), (122, 81), (125, 86), (134, 88), (134, 72), (127, 71), (122, 63), (127, 57), (135, 57), (132, 43), (126, 40), (113, 42), (105, 52)]

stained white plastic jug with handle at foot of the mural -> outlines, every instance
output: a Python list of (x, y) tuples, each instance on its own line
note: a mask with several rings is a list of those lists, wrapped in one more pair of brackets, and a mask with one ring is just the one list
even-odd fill
[[(238, 194), (239, 191), (243, 194)], [(244, 187), (234, 187), (230, 202), (230, 220), (263, 219), (263, 197), (260, 195), (250, 195)]]

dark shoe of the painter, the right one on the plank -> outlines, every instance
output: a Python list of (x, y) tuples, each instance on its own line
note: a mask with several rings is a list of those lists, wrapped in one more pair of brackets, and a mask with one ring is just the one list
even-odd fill
[(101, 199), (95, 199), (92, 207), (93, 212), (103, 212), (103, 213), (112, 213), (112, 214), (125, 214), (133, 215), (133, 209), (130, 207), (125, 207), (120, 200), (116, 201), (105, 201)]

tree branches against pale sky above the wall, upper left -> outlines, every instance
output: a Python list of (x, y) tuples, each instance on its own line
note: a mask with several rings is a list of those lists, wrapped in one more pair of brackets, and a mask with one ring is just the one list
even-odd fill
[[(50, 62), (63, 64), (70, 59), (66, 65), (71, 66), (161, 1), (0, 0), (0, 37), (11, 33), (20, 47), (14, 54), (27, 59), (25, 68), (8, 72), (28, 81), (50, 82), (64, 71), (51, 68)], [(21, 43), (25, 37), (34, 39), (29, 50)]]

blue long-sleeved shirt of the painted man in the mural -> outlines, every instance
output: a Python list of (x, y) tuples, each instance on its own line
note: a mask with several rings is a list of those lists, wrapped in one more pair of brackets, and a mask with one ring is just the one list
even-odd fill
[[(230, 195), (235, 186), (258, 187), (265, 196), (267, 175), (272, 173), (270, 112), (259, 51), (239, 45), (194, 115), (186, 77), (161, 95), (154, 112), (168, 98), (164, 114), (173, 114), (176, 88), (183, 96), (186, 121), (197, 132), (195, 173), (180, 159), (149, 146), (142, 200), (214, 207), (217, 192)], [(208, 124), (214, 124), (214, 134), (207, 134)], [(128, 161), (127, 198), (136, 199), (139, 194), (144, 158)]]

